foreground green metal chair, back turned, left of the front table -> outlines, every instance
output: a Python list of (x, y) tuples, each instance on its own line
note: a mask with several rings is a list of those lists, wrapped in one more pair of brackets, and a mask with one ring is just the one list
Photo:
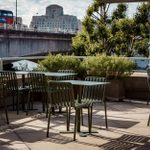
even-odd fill
[(89, 132), (90, 130), (90, 104), (87, 102), (78, 103), (74, 98), (74, 90), (71, 83), (63, 82), (50, 82), (49, 83), (49, 115), (48, 115), (48, 125), (47, 125), (47, 137), (49, 137), (49, 128), (50, 128), (50, 118), (52, 108), (66, 107), (67, 112), (67, 131), (69, 131), (70, 126), (70, 112), (71, 107), (75, 109), (75, 125), (74, 125), (74, 141), (76, 140), (78, 116), (80, 115), (80, 110), (83, 107), (89, 106)]

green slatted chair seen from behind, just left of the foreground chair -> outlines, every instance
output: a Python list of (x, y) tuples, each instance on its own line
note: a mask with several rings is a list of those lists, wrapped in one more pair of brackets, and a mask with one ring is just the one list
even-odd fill
[(27, 101), (26, 115), (28, 115), (30, 104), (32, 104), (32, 107), (33, 107), (33, 98), (37, 94), (40, 94), (40, 98), (42, 100), (43, 112), (45, 112), (45, 106), (46, 106), (47, 108), (46, 114), (47, 114), (48, 104), (47, 104), (47, 78), (46, 76), (43, 73), (32, 73), (32, 72), (29, 73), (28, 74), (28, 86), (30, 90), (29, 90), (29, 97)]

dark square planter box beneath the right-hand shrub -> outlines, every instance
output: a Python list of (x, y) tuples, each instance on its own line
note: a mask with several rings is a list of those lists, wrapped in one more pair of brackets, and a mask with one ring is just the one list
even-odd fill
[(106, 86), (106, 99), (121, 101), (125, 98), (125, 89), (123, 80), (111, 80), (111, 83)]

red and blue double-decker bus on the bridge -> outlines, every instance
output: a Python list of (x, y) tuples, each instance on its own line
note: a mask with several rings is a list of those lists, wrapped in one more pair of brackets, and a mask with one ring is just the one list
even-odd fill
[(14, 26), (13, 12), (9, 10), (0, 9), (0, 28), (13, 29), (13, 26)]

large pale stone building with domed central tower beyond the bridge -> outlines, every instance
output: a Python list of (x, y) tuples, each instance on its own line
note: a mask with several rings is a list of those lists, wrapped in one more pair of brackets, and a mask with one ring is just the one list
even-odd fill
[(41, 32), (76, 33), (78, 25), (76, 16), (64, 15), (63, 7), (50, 5), (46, 8), (45, 15), (32, 17), (30, 28)]

